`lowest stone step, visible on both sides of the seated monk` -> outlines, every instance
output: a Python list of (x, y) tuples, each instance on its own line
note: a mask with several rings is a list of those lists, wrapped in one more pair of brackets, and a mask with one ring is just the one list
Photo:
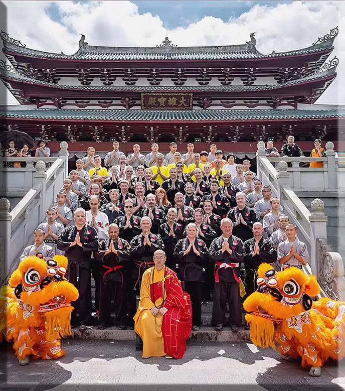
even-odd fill
[[(134, 330), (119, 330), (116, 326), (98, 330), (97, 326), (88, 327), (86, 331), (80, 332), (77, 328), (72, 329), (70, 338), (76, 339), (108, 339), (113, 341), (133, 341), (135, 349)], [(224, 327), (223, 331), (215, 331), (214, 327), (202, 326), (198, 331), (192, 331), (189, 337), (193, 341), (250, 341), (250, 331), (240, 327), (238, 332), (232, 332), (230, 327)]]

